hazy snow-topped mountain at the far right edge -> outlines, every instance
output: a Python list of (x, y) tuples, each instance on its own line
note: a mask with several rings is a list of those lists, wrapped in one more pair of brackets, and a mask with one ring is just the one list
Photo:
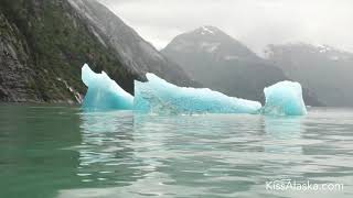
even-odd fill
[(328, 45), (269, 45), (267, 58), (330, 107), (353, 107), (353, 54)]

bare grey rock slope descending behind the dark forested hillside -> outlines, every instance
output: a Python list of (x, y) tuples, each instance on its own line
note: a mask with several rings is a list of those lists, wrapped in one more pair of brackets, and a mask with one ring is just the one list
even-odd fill
[(175, 63), (165, 58), (116, 14), (96, 0), (68, 0), (89, 24), (89, 30), (103, 45), (115, 50), (128, 68), (145, 75), (153, 73), (179, 86), (199, 86)]

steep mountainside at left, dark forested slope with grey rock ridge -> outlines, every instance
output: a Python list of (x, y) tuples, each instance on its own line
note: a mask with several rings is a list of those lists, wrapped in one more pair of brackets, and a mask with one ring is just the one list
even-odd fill
[(0, 1), (0, 101), (79, 102), (87, 89), (81, 80), (84, 63), (105, 70), (130, 94), (146, 72), (195, 84), (108, 9), (94, 0), (73, 2)]

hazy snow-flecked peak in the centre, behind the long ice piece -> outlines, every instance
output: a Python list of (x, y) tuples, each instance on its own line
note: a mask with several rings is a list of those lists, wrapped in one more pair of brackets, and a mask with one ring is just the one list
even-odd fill
[[(265, 87), (288, 79), (281, 69), (214, 26), (178, 35), (161, 52), (195, 80), (228, 96), (264, 102)], [(320, 106), (307, 90), (304, 99)]]

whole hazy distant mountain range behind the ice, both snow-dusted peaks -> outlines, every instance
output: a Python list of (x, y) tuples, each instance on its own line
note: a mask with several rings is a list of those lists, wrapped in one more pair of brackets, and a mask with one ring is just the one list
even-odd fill
[(195, 80), (229, 96), (264, 102), (263, 89), (299, 81), (309, 106), (353, 107), (353, 54), (325, 45), (269, 45), (265, 58), (214, 26), (178, 35), (161, 51)]

